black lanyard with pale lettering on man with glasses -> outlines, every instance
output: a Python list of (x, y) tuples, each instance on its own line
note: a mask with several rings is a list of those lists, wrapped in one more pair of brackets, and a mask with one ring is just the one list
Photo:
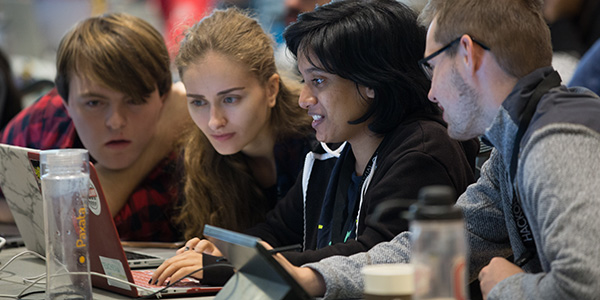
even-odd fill
[(527, 102), (525, 110), (523, 110), (523, 113), (519, 118), (519, 129), (517, 131), (517, 136), (515, 137), (515, 142), (513, 145), (513, 152), (510, 161), (510, 179), (513, 183), (512, 214), (517, 229), (519, 231), (519, 237), (521, 238), (521, 242), (527, 249), (521, 257), (515, 260), (515, 264), (517, 264), (519, 267), (525, 265), (537, 253), (535, 240), (533, 239), (533, 234), (531, 232), (531, 226), (529, 225), (529, 222), (527, 221), (527, 218), (521, 206), (521, 199), (519, 198), (518, 185), (515, 178), (517, 174), (519, 153), (521, 150), (521, 139), (523, 139), (523, 135), (529, 127), (529, 123), (531, 122), (531, 119), (535, 114), (535, 110), (542, 96), (546, 94), (551, 88), (559, 86), (560, 82), (560, 75), (558, 75), (558, 72), (554, 71), (550, 73), (546, 78), (544, 78), (544, 80), (542, 80), (542, 82), (540, 82), (540, 84), (538, 84), (538, 86), (535, 88), (531, 98)]

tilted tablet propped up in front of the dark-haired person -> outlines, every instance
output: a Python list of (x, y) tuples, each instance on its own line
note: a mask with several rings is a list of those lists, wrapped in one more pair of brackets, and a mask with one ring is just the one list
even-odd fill
[(259, 243), (259, 238), (211, 225), (204, 226), (203, 234), (237, 270), (215, 296), (215, 300), (311, 299), (300, 284)]

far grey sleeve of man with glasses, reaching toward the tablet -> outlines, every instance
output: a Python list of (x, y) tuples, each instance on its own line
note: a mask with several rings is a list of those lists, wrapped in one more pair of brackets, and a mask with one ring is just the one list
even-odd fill
[[(505, 172), (499, 156), (492, 152), (490, 159), (482, 168), (482, 177), (476, 184), (469, 186), (467, 192), (458, 200), (465, 216), (473, 218), (466, 223), (471, 249), (471, 267), (479, 270), (493, 256), (508, 256), (511, 253), (505, 228), (504, 215), (499, 208), (497, 173)], [(325, 299), (361, 298), (363, 281), (360, 270), (365, 265), (381, 263), (405, 263), (410, 258), (410, 233), (397, 235), (390, 242), (376, 245), (368, 252), (349, 257), (333, 256), (317, 263), (304, 265), (319, 272), (325, 279)], [(477, 278), (478, 271), (471, 271), (471, 277)]]

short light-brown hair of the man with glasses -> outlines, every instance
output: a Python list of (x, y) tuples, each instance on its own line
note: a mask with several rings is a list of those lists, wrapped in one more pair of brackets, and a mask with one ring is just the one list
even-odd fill
[[(516, 78), (552, 64), (550, 31), (540, 0), (429, 0), (419, 19), (428, 26), (434, 18), (436, 42), (445, 45), (471, 35)], [(448, 55), (455, 53), (456, 47), (448, 49)]]

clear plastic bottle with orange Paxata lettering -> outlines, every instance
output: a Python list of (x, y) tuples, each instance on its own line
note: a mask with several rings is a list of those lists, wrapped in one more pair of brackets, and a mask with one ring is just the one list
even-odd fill
[(92, 299), (88, 255), (89, 163), (83, 149), (40, 153), (46, 299)]

